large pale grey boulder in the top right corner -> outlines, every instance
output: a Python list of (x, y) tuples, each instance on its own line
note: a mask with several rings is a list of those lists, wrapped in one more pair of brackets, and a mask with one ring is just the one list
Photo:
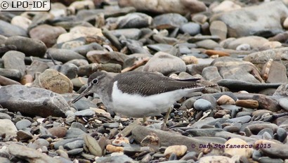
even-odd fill
[[(271, 8), (270, 6), (274, 7)], [(269, 17), (269, 15), (274, 15), (274, 17)], [(287, 15), (288, 9), (284, 4), (278, 1), (272, 1), (235, 11), (223, 12), (214, 15), (210, 18), (210, 21), (221, 20), (225, 22), (225, 24), (228, 25), (229, 37), (244, 37), (259, 31), (282, 31), (280, 18), (286, 18)]]

